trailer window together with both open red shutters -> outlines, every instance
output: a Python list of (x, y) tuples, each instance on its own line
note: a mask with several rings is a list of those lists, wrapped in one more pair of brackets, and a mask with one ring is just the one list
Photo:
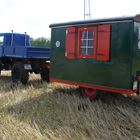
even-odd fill
[(110, 60), (110, 25), (66, 29), (65, 57)]

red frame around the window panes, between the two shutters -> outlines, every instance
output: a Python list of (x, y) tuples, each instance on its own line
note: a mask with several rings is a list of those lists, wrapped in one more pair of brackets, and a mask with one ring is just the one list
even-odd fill
[[(81, 38), (82, 38), (82, 31), (93, 31), (94, 32), (94, 48), (93, 48), (93, 55), (82, 55), (81, 54)], [(78, 58), (96, 58), (96, 42), (97, 42), (97, 35), (96, 35), (96, 27), (82, 27), (78, 28)]]

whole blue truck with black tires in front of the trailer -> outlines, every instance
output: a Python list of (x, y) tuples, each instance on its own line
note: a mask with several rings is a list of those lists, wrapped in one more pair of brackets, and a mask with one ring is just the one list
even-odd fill
[(50, 48), (32, 47), (26, 33), (0, 33), (0, 72), (11, 70), (15, 83), (26, 84), (29, 73), (40, 74), (49, 82), (50, 54)]

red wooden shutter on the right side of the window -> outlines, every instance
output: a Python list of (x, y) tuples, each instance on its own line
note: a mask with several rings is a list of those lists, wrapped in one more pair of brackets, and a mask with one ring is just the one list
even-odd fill
[(109, 61), (110, 56), (110, 25), (98, 26), (97, 61)]

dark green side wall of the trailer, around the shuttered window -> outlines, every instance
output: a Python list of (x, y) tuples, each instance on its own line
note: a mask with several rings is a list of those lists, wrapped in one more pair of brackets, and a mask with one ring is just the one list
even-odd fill
[[(66, 41), (67, 30), (75, 28), (96, 28), (109, 26), (108, 58), (103, 61), (97, 57), (78, 57), (78, 32), (75, 34), (74, 57), (68, 59)], [(82, 21), (51, 25), (52, 58), (51, 78), (91, 86), (102, 86), (117, 89), (132, 89), (132, 56), (133, 56), (133, 18)], [(97, 35), (98, 37), (98, 35)], [(107, 40), (108, 41), (108, 40)], [(60, 46), (56, 46), (59, 42)], [(100, 42), (96, 40), (99, 45)], [(98, 46), (97, 45), (97, 46)], [(97, 50), (96, 50), (97, 51)]]

